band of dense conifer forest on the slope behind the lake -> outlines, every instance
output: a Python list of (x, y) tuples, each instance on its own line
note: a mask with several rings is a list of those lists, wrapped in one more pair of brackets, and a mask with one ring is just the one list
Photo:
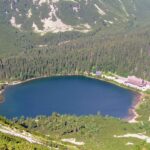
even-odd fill
[(150, 79), (149, 27), (115, 36), (89, 35), (0, 59), (1, 79), (75, 74), (93, 69)]

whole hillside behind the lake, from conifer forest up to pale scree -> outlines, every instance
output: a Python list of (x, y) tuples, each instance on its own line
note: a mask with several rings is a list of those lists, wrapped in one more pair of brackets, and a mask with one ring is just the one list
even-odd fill
[(148, 0), (6, 0), (0, 6), (2, 80), (93, 68), (150, 79)]

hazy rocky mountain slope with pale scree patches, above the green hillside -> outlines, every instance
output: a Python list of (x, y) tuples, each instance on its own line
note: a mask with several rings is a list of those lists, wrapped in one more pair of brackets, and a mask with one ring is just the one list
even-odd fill
[(148, 0), (3, 0), (0, 6), (1, 22), (41, 35), (150, 20)]

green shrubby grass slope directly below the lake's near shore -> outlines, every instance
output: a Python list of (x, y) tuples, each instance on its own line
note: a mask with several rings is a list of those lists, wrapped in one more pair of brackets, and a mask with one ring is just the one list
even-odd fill
[[(114, 118), (104, 118), (101, 116), (60, 116), (37, 117), (20, 120), (23, 125), (34, 132), (46, 134), (56, 139), (76, 138), (77, 141), (84, 142), (80, 146), (81, 150), (148, 150), (150, 144), (144, 140), (136, 138), (115, 138), (115, 135), (128, 133), (143, 133), (147, 131), (140, 123), (129, 124)], [(18, 122), (18, 123), (19, 123)], [(147, 135), (150, 135), (147, 133)], [(133, 143), (133, 145), (127, 145)]]

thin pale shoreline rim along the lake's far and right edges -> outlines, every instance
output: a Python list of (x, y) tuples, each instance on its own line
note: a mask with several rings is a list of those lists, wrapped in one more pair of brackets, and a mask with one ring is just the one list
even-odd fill
[[(41, 77), (30, 78), (30, 79), (27, 79), (27, 80), (24, 80), (24, 81), (11, 81), (11, 82), (7, 82), (6, 87), (7, 86), (14, 86), (14, 85), (18, 85), (18, 84), (23, 84), (23, 83), (26, 83), (26, 82), (29, 82), (29, 81), (43, 79), (43, 78), (63, 77), (63, 76), (83, 76), (83, 77), (86, 77), (86, 78), (91, 78), (91, 79), (95, 79), (95, 80), (100, 80), (100, 81), (108, 82), (108, 83), (114, 84), (116, 86), (125, 88), (127, 90), (131, 90), (133, 92), (136, 92), (137, 96), (136, 96), (135, 100), (133, 101), (132, 106), (129, 108), (129, 115), (125, 119), (123, 119), (123, 120), (125, 120), (125, 121), (127, 121), (129, 123), (136, 123), (137, 122), (137, 118), (139, 117), (139, 115), (138, 115), (138, 113), (137, 113), (136, 110), (137, 110), (137, 108), (139, 107), (139, 105), (143, 101), (144, 93), (143, 92), (139, 92), (139, 90), (137, 90), (137, 89), (129, 88), (129, 87), (126, 87), (124, 85), (117, 84), (113, 80), (107, 80), (107, 79), (102, 78), (102, 77), (97, 77), (97, 76), (92, 76), (92, 75), (86, 75), (86, 74), (68, 74), (68, 75), (58, 74), (58, 75), (52, 75), (52, 76), (41, 76)], [(2, 89), (2, 90), (0, 90), (0, 103), (4, 102), (3, 92), (5, 91), (5, 88)]]

